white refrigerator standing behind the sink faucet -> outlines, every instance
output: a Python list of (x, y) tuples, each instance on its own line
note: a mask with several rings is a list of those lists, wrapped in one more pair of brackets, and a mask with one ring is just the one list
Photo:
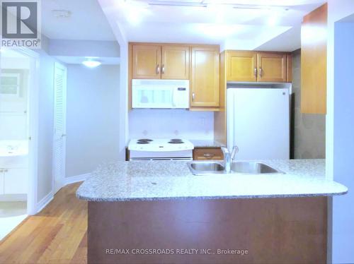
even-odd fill
[(290, 158), (290, 89), (227, 89), (227, 148), (239, 147), (237, 160)]

